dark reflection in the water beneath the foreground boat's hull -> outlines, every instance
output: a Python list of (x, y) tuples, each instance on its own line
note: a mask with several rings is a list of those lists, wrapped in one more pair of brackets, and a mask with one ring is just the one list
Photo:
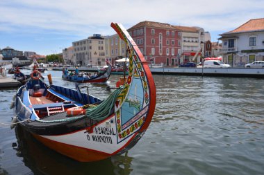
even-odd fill
[(22, 127), (15, 127), (17, 143), (12, 147), (33, 174), (130, 174), (133, 158), (126, 154), (93, 163), (79, 163), (56, 153), (35, 140)]

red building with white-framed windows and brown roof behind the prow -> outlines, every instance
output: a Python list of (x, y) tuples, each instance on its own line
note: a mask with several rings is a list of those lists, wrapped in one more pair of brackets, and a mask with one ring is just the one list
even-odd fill
[(176, 66), (181, 35), (174, 26), (142, 21), (128, 31), (151, 66)]

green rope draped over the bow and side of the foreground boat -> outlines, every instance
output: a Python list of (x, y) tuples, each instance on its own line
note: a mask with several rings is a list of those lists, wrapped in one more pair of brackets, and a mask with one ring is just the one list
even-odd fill
[(35, 119), (37, 122), (43, 122), (43, 123), (53, 123), (53, 122), (68, 122), (68, 121), (73, 121), (73, 120), (78, 120), (80, 118), (91, 118), (92, 120), (104, 120), (110, 114), (112, 113), (112, 109), (115, 105), (115, 101), (117, 99), (117, 96), (119, 93), (122, 91), (124, 86), (120, 86), (119, 89), (116, 89), (109, 95), (109, 97), (104, 100), (101, 104), (98, 105), (84, 105), (83, 107), (88, 107), (89, 109), (86, 109), (86, 115), (85, 116), (77, 116), (77, 117), (71, 117), (71, 118), (63, 118), (60, 120), (40, 120), (40, 119)]

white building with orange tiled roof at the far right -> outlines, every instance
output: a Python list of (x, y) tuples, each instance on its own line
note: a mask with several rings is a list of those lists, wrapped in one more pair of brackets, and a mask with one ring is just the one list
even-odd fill
[(264, 61), (264, 18), (251, 19), (220, 36), (220, 54), (227, 64), (244, 66), (254, 61)]

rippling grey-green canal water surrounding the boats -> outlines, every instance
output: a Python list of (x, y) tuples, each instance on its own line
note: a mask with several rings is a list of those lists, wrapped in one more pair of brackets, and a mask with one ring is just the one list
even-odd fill
[[(53, 84), (74, 88), (60, 71), (48, 73)], [(111, 75), (108, 85), (119, 77)], [(263, 79), (154, 75), (154, 80), (154, 117), (126, 154), (79, 163), (20, 127), (0, 125), (0, 174), (264, 174)], [(101, 99), (109, 94), (106, 85), (88, 86)], [(9, 107), (15, 92), (0, 90), (1, 123), (14, 116)]]

